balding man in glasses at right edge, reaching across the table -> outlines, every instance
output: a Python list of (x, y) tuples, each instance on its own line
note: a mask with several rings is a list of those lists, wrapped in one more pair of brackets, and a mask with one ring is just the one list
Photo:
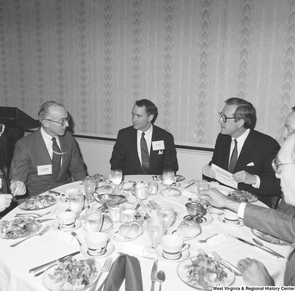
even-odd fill
[[(276, 177), (281, 179), (281, 188), (286, 203), (295, 206), (295, 131), (284, 142), (272, 166)], [(289, 253), (284, 276), (285, 286), (295, 286), (295, 217), (249, 203), (240, 203), (222, 195), (216, 188), (203, 190), (201, 199), (215, 207), (226, 207), (237, 212), (246, 225), (257, 228), (283, 240), (293, 243)], [(238, 261), (238, 270), (248, 286), (273, 285), (273, 279), (265, 266), (255, 260), (246, 258)]]

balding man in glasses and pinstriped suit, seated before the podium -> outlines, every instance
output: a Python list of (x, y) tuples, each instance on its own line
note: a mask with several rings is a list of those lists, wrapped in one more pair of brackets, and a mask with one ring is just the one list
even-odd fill
[(71, 183), (68, 170), (74, 181), (86, 176), (76, 141), (66, 131), (70, 116), (65, 107), (45, 102), (38, 117), (42, 126), (17, 141), (9, 173), (25, 183), (30, 197)]

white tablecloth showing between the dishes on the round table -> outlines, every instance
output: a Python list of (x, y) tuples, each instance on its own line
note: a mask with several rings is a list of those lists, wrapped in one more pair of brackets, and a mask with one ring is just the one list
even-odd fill
[[(141, 181), (147, 183), (148, 181), (152, 181), (152, 176), (147, 175), (130, 175), (125, 176), (124, 181), (136, 181), (137, 183), (140, 183)], [(188, 186), (191, 179), (186, 178), (184, 181), (180, 182), (180, 186), (178, 189), (180, 191), (183, 191), (184, 187)], [(168, 203), (173, 205), (174, 207), (174, 220), (172, 222), (172, 225), (177, 226), (180, 224), (181, 220), (178, 218), (178, 214), (180, 212), (183, 212), (186, 210), (185, 203), (188, 201), (188, 198), (186, 196), (179, 196), (176, 198), (167, 198), (162, 195), (160, 195), (160, 191), (165, 189), (164, 186), (161, 185), (162, 181), (159, 181), (159, 188), (158, 188), (158, 194), (156, 196), (150, 196), (146, 201), (144, 201), (144, 204), (148, 203), (148, 200), (153, 199), (156, 201), (156, 203), (164, 204)], [(99, 186), (105, 185), (105, 183), (100, 183)], [(227, 190), (229, 188), (208, 183), (208, 187), (216, 187), (219, 190)], [(69, 188), (78, 188), (83, 191), (83, 186), (81, 184), (81, 181), (74, 182), (70, 184), (66, 184), (63, 186), (59, 186), (55, 188), (55, 191), (64, 191), (65, 189)], [(194, 185), (187, 188), (188, 191), (194, 191)], [(135, 198), (131, 195), (131, 192), (129, 193), (129, 202), (134, 202)], [(47, 192), (45, 192), (47, 194)], [(52, 196), (55, 196), (52, 194)], [(194, 197), (193, 197), (194, 198)], [(56, 197), (57, 203), (49, 208), (46, 209), (40, 209), (32, 211), (36, 212), (38, 214), (43, 214), (48, 212), (49, 210), (53, 211), (56, 207), (60, 207), (61, 209), (65, 210), (69, 208), (68, 204), (63, 203), (60, 201), (60, 196)], [(96, 204), (96, 202), (92, 202), (90, 206), (93, 206)], [(265, 204), (263, 204), (260, 201), (255, 202), (256, 205), (267, 207)], [(124, 203), (125, 207), (131, 207), (132, 204)], [(141, 209), (141, 207), (139, 208)], [(19, 207), (13, 209), (11, 212), (9, 212), (5, 217), (2, 219), (4, 220), (12, 220), (14, 219), (14, 215), (16, 213), (26, 213), (26, 211), (23, 211), (19, 209)], [(50, 217), (50, 214), (47, 214), (45, 217), (42, 218), (55, 218), (55, 215), (53, 217)], [(156, 211), (152, 211), (152, 214), (150, 215), (157, 215)], [(278, 259), (274, 256), (269, 255), (268, 253), (264, 251), (260, 251), (258, 248), (254, 248), (253, 246), (249, 246), (245, 243), (242, 243), (228, 235), (228, 233), (233, 234), (239, 238), (243, 238), (245, 240), (248, 240), (250, 242), (253, 242), (252, 238), (255, 238), (255, 235), (251, 232), (251, 229), (247, 226), (240, 226), (240, 227), (231, 227), (228, 225), (224, 225), (218, 221), (217, 215), (212, 215), (213, 222), (202, 226), (202, 232), (200, 235), (198, 235), (196, 238), (186, 241), (190, 244), (189, 252), (190, 256), (196, 256), (198, 252), (198, 248), (202, 248), (209, 256), (213, 256), (211, 251), (216, 251), (219, 256), (222, 257), (222, 259), (229, 261), (233, 265), (237, 265), (237, 262), (240, 259), (245, 259), (245, 257), (250, 257), (252, 259), (257, 259), (258, 261), (261, 261), (266, 268), (268, 269), (268, 272), (270, 275), (274, 278), (276, 286), (281, 286), (283, 284), (283, 274), (285, 272), (285, 264), (286, 259)], [(52, 225), (52, 223), (55, 220), (49, 220), (47, 222), (42, 223), (42, 229), (46, 225)], [(82, 221), (83, 222), (83, 221)], [(84, 222), (82, 223), (82, 226), (75, 230), (75, 232), (79, 236), (79, 240), (81, 243), (85, 242), (85, 235), (87, 234), (85, 230), (83, 230)], [(118, 225), (114, 225), (114, 227), (117, 227)], [(221, 243), (217, 246), (213, 246), (211, 242), (207, 243), (198, 243), (198, 240), (205, 239), (209, 237), (210, 235), (213, 235), (214, 233), (224, 233), (226, 235), (227, 241), (224, 243)], [(47, 262), (53, 261), (55, 259), (58, 259), (60, 257), (63, 257), (65, 255), (68, 255), (70, 253), (79, 251), (79, 243), (76, 239), (73, 239), (71, 244), (67, 244), (61, 240), (58, 240), (59, 232), (54, 230), (52, 227), (50, 228), (47, 233), (45, 233), (42, 236), (36, 236), (33, 238), (30, 238), (23, 243), (19, 244), (16, 247), (10, 247), (11, 244), (16, 243), (20, 241), (21, 239), (15, 239), (15, 240), (6, 240), (6, 239), (0, 239), (0, 290), (4, 291), (6, 290), (5, 285), (8, 285), (7, 290), (9, 291), (42, 291), (47, 290), (47, 288), (42, 283), (42, 275), (39, 277), (34, 277), (34, 274), (28, 273), (29, 269), (45, 264)], [(120, 242), (117, 240), (110, 239), (111, 242), (114, 244), (115, 249), (114, 252), (110, 255), (115, 260), (119, 255), (117, 252), (123, 252), (124, 242)], [(146, 232), (144, 232), (142, 235), (140, 235), (135, 240), (132, 240), (131, 243), (148, 246), (150, 244), (150, 240), (148, 238), (148, 235)], [(289, 253), (289, 246), (278, 246), (273, 245), (271, 243), (267, 243), (263, 241), (263, 244), (265, 246), (268, 246), (272, 248), (274, 251), (280, 253), (281, 255), (287, 257)], [(194, 288), (186, 285), (184, 282), (181, 281), (181, 279), (178, 277), (176, 268), (178, 263), (176, 262), (167, 262), (163, 261), (162, 259), (158, 258), (156, 254), (149, 253), (148, 251), (144, 251), (143, 256), (148, 257), (154, 257), (158, 260), (158, 271), (163, 270), (166, 274), (166, 280), (162, 284), (162, 290), (194, 290)], [(78, 254), (75, 256), (75, 258), (85, 258), (82, 254)], [(106, 258), (96, 259), (96, 261), (103, 266)], [(151, 270), (153, 267), (154, 260), (149, 260), (145, 258), (138, 257), (140, 261), (141, 266), (141, 274), (142, 274), (142, 283), (143, 283), (143, 290), (150, 290), (151, 287)], [(103, 282), (105, 279), (106, 274), (103, 274), (103, 276), (100, 279), (100, 283)], [(99, 287), (100, 283), (98, 284), (97, 288)], [(242, 277), (236, 277), (235, 282), (233, 283), (234, 286), (243, 286), (245, 285)], [(155, 283), (155, 290), (158, 290), (159, 283)], [(120, 288), (120, 290), (125, 290), (124, 282)]]

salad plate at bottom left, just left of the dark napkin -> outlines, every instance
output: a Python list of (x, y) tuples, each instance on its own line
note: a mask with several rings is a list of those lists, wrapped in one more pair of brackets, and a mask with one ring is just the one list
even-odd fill
[[(51, 265), (44, 272), (42, 282), (50, 291), (82, 291), (92, 286), (100, 274), (101, 266), (95, 260), (69, 257)], [(87, 285), (86, 281), (89, 282)]]

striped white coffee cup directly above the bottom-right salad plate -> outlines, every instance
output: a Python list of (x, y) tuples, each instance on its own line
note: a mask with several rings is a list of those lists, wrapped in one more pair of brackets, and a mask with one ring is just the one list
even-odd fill
[(169, 260), (177, 260), (180, 258), (181, 253), (188, 248), (187, 244), (184, 244), (183, 238), (177, 235), (164, 235), (160, 239), (163, 257)]

